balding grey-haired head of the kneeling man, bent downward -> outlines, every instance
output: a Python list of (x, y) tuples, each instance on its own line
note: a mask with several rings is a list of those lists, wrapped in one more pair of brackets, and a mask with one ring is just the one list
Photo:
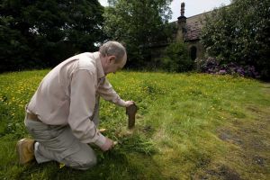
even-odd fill
[(99, 48), (99, 52), (105, 75), (115, 73), (127, 62), (126, 49), (117, 41), (107, 41)]

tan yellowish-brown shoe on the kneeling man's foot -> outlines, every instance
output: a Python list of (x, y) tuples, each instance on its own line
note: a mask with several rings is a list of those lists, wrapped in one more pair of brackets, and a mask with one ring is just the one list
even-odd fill
[(27, 138), (19, 140), (16, 145), (16, 150), (21, 165), (30, 162), (34, 158), (34, 140)]

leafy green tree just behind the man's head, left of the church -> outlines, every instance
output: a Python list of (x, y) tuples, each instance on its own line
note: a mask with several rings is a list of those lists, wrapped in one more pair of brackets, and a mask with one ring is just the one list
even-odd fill
[(104, 31), (114, 40), (125, 43), (129, 67), (147, 65), (147, 46), (166, 39), (166, 26), (171, 16), (172, 0), (110, 0), (105, 8)]

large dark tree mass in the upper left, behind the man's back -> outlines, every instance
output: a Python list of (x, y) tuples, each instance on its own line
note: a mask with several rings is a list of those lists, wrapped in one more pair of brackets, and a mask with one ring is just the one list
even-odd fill
[(0, 12), (0, 71), (53, 67), (104, 39), (97, 0), (3, 0)]

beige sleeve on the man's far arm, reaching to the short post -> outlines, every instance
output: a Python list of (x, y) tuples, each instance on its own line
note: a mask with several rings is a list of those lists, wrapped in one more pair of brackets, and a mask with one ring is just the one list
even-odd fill
[(119, 94), (114, 91), (107, 78), (104, 77), (104, 82), (102, 85), (99, 85), (97, 92), (103, 97), (104, 100), (120, 106), (125, 106), (125, 102), (121, 99)]

